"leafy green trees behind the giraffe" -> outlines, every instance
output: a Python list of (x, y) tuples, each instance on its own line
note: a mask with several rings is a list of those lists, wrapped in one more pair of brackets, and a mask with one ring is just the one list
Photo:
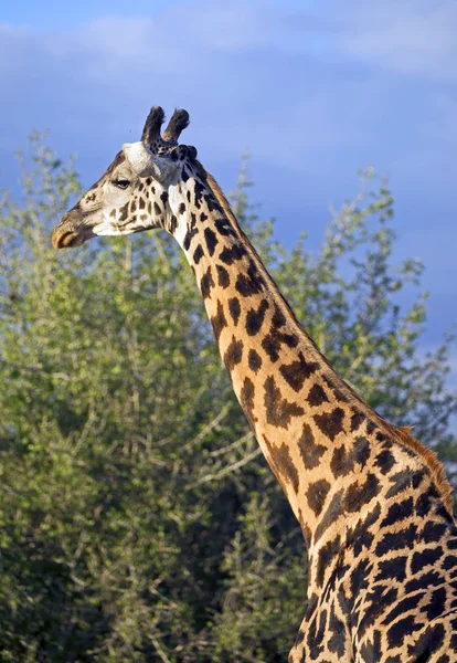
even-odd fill
[[(306, 608), (301, 535), (191, 271), (153, 233), (52, 250), (78, 180), (38, 136), (31, 154), (0, 209), (0, 661), (283, 661)], [(421, 356), (425, 297), (397, 304), (422, 265), (392, 266), (387, 185), (310, 254), (258, 223), (248, 183), (244, 168), (235, 211), (322, 350), (454, 461), (449, 339)]]

